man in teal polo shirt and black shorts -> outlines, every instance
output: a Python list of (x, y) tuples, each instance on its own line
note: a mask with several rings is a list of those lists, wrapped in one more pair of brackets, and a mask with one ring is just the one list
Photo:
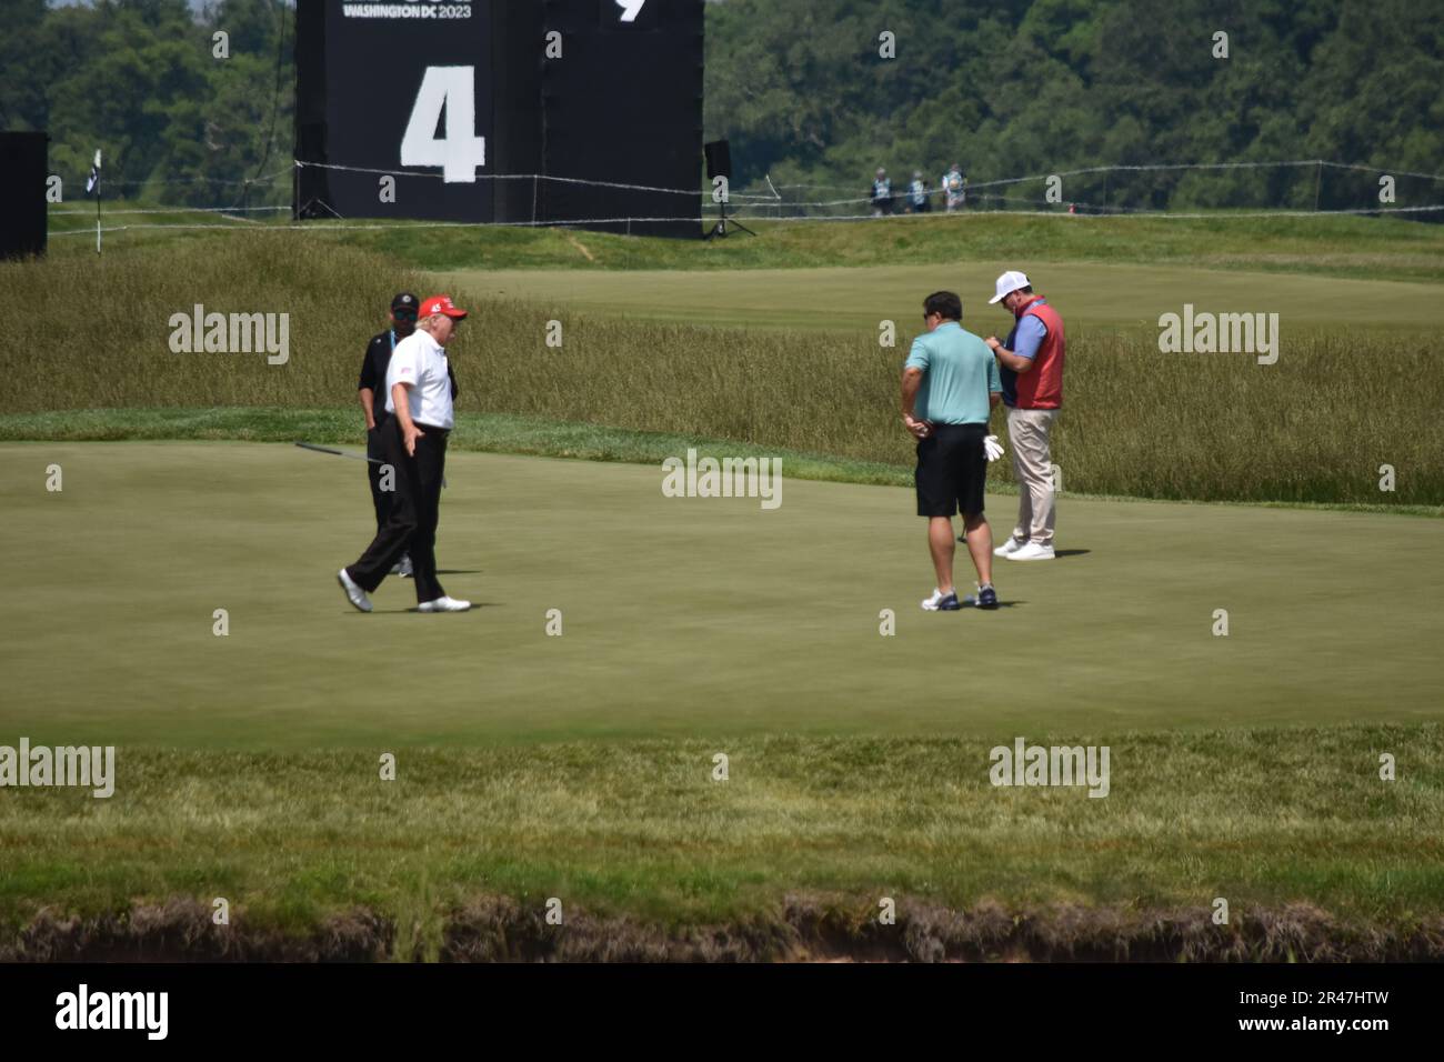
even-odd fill
[(992, 585), (992, 529), (983, 516), (988, 462), (1002, 454), (988, 435), (1002, 381), (998, 363), (979, 337), (962, 325), (963, 302), (953, 292), (923, 301), (927, 334), (913, 341), (902, 366), (902, 423), (917, 438), (917, 514), (927, 517), (927, 543), (937, 572), (930, 613), (962, 607), (953, 588), (953, 513), (962, 513), (967, 552), (978, 569), (979, 608), (996, 608)]

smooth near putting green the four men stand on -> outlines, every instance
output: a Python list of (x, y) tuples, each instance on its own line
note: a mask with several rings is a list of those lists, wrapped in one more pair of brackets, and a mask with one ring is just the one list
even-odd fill
[[(656, 467), (455, 454), (439, 556), (481, 607), (413, 614), (388, 579), (361, 616), (334, 578), (371, 533), (360, 462), (256, 444), (0, 454), (9, 738), (387, 748), (1444, 715), (1432, 520), (1064, 496), (1064, 555), (999, 562), (1008, 607), (924, 614), (907, 490), (787, 480), (764, 511), (663, 497)], [(1011, 510), (992, 498), (999, 522)]]

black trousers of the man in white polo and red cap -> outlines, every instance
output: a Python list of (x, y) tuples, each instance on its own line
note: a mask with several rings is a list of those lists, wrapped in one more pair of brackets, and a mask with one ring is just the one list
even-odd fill
[(397, 418), (387, 418), (386, 428), (378, 432), (383, 459), (396, 470), (396, 490), (386, 523), (361, 559), (347, 568), (347, 574), (370, 594), (381, 585), (401, 553), (409, 552), (416, 571), (416, 601), (422, 603), (435, 601), (446, 592), (436, 578), (436, 523), (440, 519), (449, 432), (423, 423), (416, 426), (423, 432), (416, 441), (416, 457), (406, 454)]

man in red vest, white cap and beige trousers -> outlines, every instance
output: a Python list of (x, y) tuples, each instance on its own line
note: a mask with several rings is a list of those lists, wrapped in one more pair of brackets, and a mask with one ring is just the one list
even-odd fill
[(1063, 318), (1032, 292), (1028, 277), (1008, 270), (988, 301), (1001, 302), (1017, 318), (1008, 341), (985, 342), (998, 358), (1002, 400), (1008, 406), (1012, 471), (1018, 481), (1018, 524), (993, 553), (1009, 561), (1053, 559), (1053, 454), (1048, 439), (1063, 406)]

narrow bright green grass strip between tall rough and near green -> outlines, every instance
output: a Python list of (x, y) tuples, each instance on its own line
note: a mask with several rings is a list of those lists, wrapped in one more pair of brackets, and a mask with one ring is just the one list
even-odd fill
[[(360, 412), (349, 407), (283, 409), (75, 409), (46, 413), (0, 415), (0, 442), (319, 442), (361, 449)], [(999, 435), (1006, 435), (999, 429)], [(786, 475), (796, 480), (851, 483), (869, 487), (910, 487), (913, 470), (874, 461), (855, 461), (807, 451), (734, 442), (667, 432), (643, 432), (575, 420), (514, 416), (508, 413), (459, 413), (452, 433), (453, 449), (518, 457), (565, 458), (614, 464), (653, 465), (669, 457), (686, 458), (689, 448), (699, 457), (762, 458), (784, 461)], [(1006, 445), (1006, 444), (1005, 444)], [(1017, 494), (1011, 483), (993, 481), (989, 491)], [(1320, 501), (1213, 501), (1180, 497), (1084, 494), (1064, 497), (1090, 501), (1161, 501), (1190, 506), (1253, 506), (1344, 513), (1389, 513), (1444, 519), (1444, 504), (1362, 504)]]

